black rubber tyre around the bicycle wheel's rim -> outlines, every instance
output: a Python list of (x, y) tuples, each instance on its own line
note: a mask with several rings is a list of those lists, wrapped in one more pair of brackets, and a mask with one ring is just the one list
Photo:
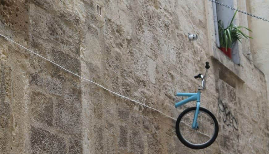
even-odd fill
[(184, 144), (185, 146), (192, 148), (192, 149), (203, 149), (203, 148), (207, 148), (208, 146), (210, 146), (217, 138), (218, 133), (219, 133), (219, 124), (218, 121), (216, 119), (216, 117), (207, 109), (200, 107), (199, 110), (206, 112), (209, 116), (211, 116), (211, 118), (213, 119), (214, 123), (215, 123), (215, 132), (213, 137), (211, 138), (211, 140), (205, 144), (202, 145), (193, 145), (193, 144), (189, 144), (188, 142), (186, 142), (186, 140), (184, 140), (184, 138), (181, 136), (180, 130), (179, 130), (179, 123), (181, 118), (183, 117), (183, 115), (185, 115), (186, 113), (188, 113), (189, 111), (192, 110), (196, 110), (196, 107), (190, 107), (187, 108), (186, 110), (184, 110), (177, 118), (177, 122), (176, 122), (176, 133), (177, 133), (177, 137), (178, 139), (181, 141), (182, 144)]

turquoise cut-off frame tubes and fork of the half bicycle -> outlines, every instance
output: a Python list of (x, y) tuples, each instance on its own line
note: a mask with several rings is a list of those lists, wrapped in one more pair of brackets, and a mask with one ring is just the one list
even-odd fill
[(181, 100), (180, 102), (175, 103), (175, 107), (179, 107), (181, 105), (184, 105), (186, 103), (189, 103), (191, 101), (196, 100), (196, 111), (194, 113), (193, 117), (193, 122), (192, 122), (192, 128), (193, 129), (198, 129), (198, 124), (197, 124), (197, 117), (199, 113), (199, 108), (200, 108), (200, 96), (201, 96), (201, 91), (199, 90), (197, 93), (180, 93), (178, 92), (176, 96), (187, 96), (188, 98)]

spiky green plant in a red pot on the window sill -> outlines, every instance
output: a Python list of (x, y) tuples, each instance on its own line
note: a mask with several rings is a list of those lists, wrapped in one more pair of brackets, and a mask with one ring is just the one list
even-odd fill
[(252, 37), (248, 36), (247, 34), (243, 33), (241, 31), (241, 28), (245, 28), (246, 30), (249, 30), (252, 32), (252, 30), (244, 27), (244, 26), (236, 26), (233, 24), (234, 17), (236, 15), (237, 11), (234, 13), (233, 18), (228, 25), (228, 27), (224, 28), (223, 22), (221, 20), (218, 21), (218, 27), (219, 27), (219, 38), (220, 38), (220, 50), (224, 52), (229, 58), (232, 58), (231, 55), (231, 48), (233, 44), (238, 40), (240, 43), (240, 39), (244, 38), (250, 38), (253, 39)]

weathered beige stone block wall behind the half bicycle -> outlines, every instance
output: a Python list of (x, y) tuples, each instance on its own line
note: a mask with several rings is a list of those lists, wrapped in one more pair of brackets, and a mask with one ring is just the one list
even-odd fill
[[(2, 0), (0, 12), (0, 34), (174, 118), (195, 105), (175, 109), (183, 98), (174, 92), (197, 91), (200, 81), (193, 76), (209, 61), (201, 106), (216, 115), (220, 126), (210, 147), (187, 148), (177, 139), (174, 120), (1, 37), (1, 153), (268, 151), (264, 74), (244, 55), (248, 43), (239, 45), (240, 66), (216, 48), (209, 1)], [(247, 23), (244, 16), (237, 18)], [(189, 32), (199, 39), (190, 42)]]

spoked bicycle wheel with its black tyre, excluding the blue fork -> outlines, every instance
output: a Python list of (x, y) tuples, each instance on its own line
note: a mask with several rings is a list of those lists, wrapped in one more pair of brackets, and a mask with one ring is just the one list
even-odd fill
[(195, 111), (196, 107), (190, 107), (178, 116), (176, 133), (178, 139), (185, 146), (192, 149), (203, 149), (210, 146), (216, 140), (219, 125), (210, 111), (200, 107), (197, 118), (198, 128), (193, 129), (191, 126)]

